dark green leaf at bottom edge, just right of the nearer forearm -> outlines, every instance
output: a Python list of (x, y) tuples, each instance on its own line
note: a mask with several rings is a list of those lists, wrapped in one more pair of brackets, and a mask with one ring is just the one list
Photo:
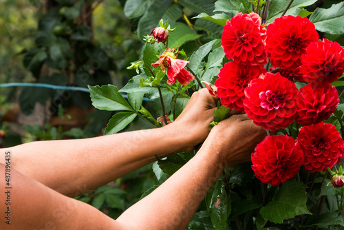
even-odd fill
[(213, 192), (206, 195), (206, 209), (215, 229), (226, 229), (227, 193), (223, 180), (217, 180)]

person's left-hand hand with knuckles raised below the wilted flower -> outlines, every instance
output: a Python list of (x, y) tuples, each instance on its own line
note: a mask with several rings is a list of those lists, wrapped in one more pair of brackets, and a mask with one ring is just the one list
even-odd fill
[(182, 114), (166, 127), (173, 130), (174, 135), (181, 136), (184, 146), (182, 151), (191, 151), (209, 134), (209, 123), (214, 121), (213, 111), (217, 109), (218, 98), (211, 96), (208, 90), (201, 89), (191, 96)]

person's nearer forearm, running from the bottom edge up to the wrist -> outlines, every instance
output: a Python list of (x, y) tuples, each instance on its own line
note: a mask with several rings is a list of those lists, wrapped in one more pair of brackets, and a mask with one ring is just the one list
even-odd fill
[(185, 229), (208, 189), (222, 174), (219, 153), (210, 145), (117, 219), (130, 229)]

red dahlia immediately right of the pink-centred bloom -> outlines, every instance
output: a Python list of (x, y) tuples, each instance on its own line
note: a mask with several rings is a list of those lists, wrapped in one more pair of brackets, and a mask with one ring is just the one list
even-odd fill
[(331, 116), (338, 103), (338, 92), (330, 83), (305, 85), (299, 91), (296, 121), (301, 125), (320, 123)]

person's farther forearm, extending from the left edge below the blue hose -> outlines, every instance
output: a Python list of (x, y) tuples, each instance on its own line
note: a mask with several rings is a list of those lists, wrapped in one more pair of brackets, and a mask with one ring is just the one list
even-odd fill
[[(177, 144), (178, 143), (178, 144)], [(182, 136), (171, 127), (81, 140), (51, 140), (1, 149), (25, 176), (67, 196), (77, 196), (177, 151)], [(180, 146), (179, 146), (180, 147)], [(1, 157), (3, 163), (5, 157)]]

